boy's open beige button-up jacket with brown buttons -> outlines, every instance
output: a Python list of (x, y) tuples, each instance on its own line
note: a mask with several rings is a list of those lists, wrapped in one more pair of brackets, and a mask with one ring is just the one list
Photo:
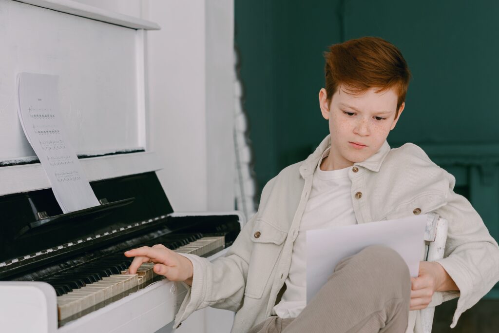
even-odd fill
[[(312, 186), (312, 177), (327, 136), (305, 161), (293, 164), (270, 180), (261, 194), (258, 212), (241, 231), (223, 258), (210, 263), (186, 255), (194, 266), (188, 289), (175, 318), (178, 326), (204, 307), (237, 312), (232, 332), (247, 332), (272, 315), (289, 272), (293, 242)], [(418, 146), (407, 143), (381, 149), (349, 172), (357, 223), (389, 220), (435, 212), (449, 221), (445, 268), (460, 292), (437, 292), (431, 305), (460, 297), (452, 321), (476, 304), (499, 280), (499, 249), (478, 213), (453, 192), (455, 178), (433, 163)], [(357, 198), (355, 194), (361, 192)], [(418, 210), (416, 210), (418, 211)], [(255, 237), (258, 232), (259, 237)], [(419, 311), (411, 311), (408, 332), (421, 332)], [(416, 323), (416, 325), (415, 325)]]

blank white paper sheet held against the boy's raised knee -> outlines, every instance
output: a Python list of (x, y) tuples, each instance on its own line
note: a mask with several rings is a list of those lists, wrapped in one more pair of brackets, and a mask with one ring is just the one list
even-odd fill
[(411, 276), (417, 277), (424, 251), (428, 218), (428, 215), (418, 215), (397, 220), (308, 230), (307, 303), (326, 283), (343, 258), (352, 256), (369, 245), (385, 245), (397, 251), (409, 267)]

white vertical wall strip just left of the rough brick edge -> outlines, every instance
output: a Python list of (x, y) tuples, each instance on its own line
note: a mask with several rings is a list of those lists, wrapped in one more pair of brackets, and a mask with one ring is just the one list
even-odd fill
[(207, 208), (234, 209), (234, 0), (205, 1)]

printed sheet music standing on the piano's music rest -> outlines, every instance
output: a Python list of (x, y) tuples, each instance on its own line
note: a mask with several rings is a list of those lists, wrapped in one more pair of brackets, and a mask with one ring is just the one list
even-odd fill
[[(99, 205), (71, 148), (59, 110), (58, 76), (20, 73), (17, 115), (64, 213)], [(88, 133), (90, 135), (90, 133)]]

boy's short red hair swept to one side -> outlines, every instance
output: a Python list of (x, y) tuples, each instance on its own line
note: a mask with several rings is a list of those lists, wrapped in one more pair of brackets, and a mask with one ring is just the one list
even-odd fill
[(370, 88), (377, 92), (395, 87), (398, 95), (397, 111), (405, 101), (411, 72), (400, 50), (378, 37), (347, 40), (329, 47), (324, 53), (327, 100), (344, 84), (353, 94), (362, 94)]

